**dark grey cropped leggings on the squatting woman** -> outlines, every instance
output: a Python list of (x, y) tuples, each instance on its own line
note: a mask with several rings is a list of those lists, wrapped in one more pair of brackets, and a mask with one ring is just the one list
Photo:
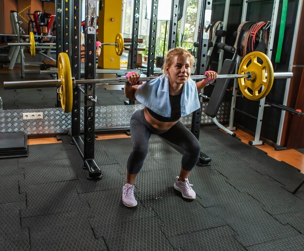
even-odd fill
[(182, 167), (191, 171), (200, 157), (201, 146), (197, 138), (178, 121), (169, 130), (156, 130), (150, 125), (144, 110), (137, 110), (130, 121), (130, 131), (133, 149), (128, 159), (127, 169), (130, 174), (136, 174), (144, 164), (149, 151), (149, 139), (151, 134), (159, 134), (172, 144), (180, 146), (184, 150)]

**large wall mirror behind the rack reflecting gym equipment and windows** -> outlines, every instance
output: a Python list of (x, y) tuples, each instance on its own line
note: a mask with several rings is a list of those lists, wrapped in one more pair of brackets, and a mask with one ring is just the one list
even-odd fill
[[(111, 6), (111, 12), (107, 11), (103, 1), (97, 2), (97, 35), (96, 35), (96, 79), (124, 77), (131, 69), (139, 72), (141, 76), (147, 76), (149, 70), (152, 75), (162, 74), (163, 59), (168, 51), (169, 25), (171, 18), (171, 1), (159, 0), (157, 21), (155, 25), (155, 46), (151, 48), (149, 39), (152, 36), (151, 26), (151, 0), (139, 1), (139, 10), (135, 10), (134, 0), (121, 1), (121, 8)], [(119, 2), (119, 1), (118, 1)], [(113, 2), (113, 4), (115, 4)], [(195, 42), (198, 40), (200, 30), (200, 16), (202, 3), (199, 0), (180, 0), (177, 22), (177, 34), (175, 47), (182, 47), (191, 51), (193, 55), (198, 48)], [(57, 78), (56, 41), (58, 29), (56, 28), (56, 2), (46, 0), (38, 6), (29, 8), (27, 12), (18, 14), (19, 5), (10, 6), (13, 14), (7, 19), (5, 29), (0, 36), (2, 81), (23, 80), (49, 80)], [(117, 11), (114, 11), (117, 10)], [(136, 13), (135, 13), (136, 12)], [(211, 15), (211, 13), (210, 13)], [(136, 21), (137, 55), (135, 65), (132, 64), (131, 51), (133, 50), (132, 38), (134, 37), (134, 18)], [(81, 69), (84, 78), (85, 68), (85, 0), (82, 1), (82, 37), (81, 37)], [(115, 29), (113, 24), (117, 24)], [(138, 27), (138, 28), (137, 28)], [(30, 38), (34, 34), (34, 50)], [(121, 55), (117, 55), (116, 34), (121, 33), (123, 47)], [(22, 36), (21, 36), (22, 35)], [(22, 46), (7, 46), (8, 44), (20, 44)], [(75, 46), (75, 45), (72, 45)], [(153, 49), (152, 69), (149, 64), (149, 53)], [(151, 73), (149, 74), (151, 75)], [(3, 109), (35, 109), (53, 108), (60, 106), (57, 100), (57, 92), (54, 87), (28, 88), (16, 90), (4, 90), (0, 87), (0, 97)], [(82, 96), (82, 105), (84, 97)], [(128, 105), (132, 104), (123, 93), (123, 84), (97, 85), (96, 106)], [(138, 104), (135, 101), (135, 104)]]

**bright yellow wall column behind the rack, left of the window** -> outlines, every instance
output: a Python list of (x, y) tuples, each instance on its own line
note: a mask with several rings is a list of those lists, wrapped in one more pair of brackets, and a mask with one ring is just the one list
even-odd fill
[[(115, 43), (117, 33), (120, 33), (122, 0), (103, 0), (98, 18), (98, 40), (101, 43)], [(98, 66), (103, 69), (119, 69), (120, 57), (115, 52), (115, 46), (102, 46)]]

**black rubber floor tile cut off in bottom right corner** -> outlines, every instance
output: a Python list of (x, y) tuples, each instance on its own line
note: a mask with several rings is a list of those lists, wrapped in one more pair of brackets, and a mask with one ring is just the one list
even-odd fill
[(248, 251), (303, 251), (303, 247), (304, 235), (296, 234), (295, 236), (288, 236), (286, 238), (261, 243), (259, 245), (247, 247), (246, 249)]

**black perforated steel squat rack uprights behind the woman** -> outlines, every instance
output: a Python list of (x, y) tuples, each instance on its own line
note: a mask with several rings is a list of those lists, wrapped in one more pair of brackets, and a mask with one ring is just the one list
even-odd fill
[[(169, 32), (169, 48), (175, 47), (177, 34), (177, 17), (178, 17), (178, 0), (172, 0), (171, 18)], [(80, 34), (81, 34), (81, 0), (65, 0), (56, 1), (56, 25), (57, 38), (56, 49), (57, 54), (66, 52), (71, 58), (71, 71), (75, 80), (80, 79)], [(139, 0), (135, 0), (136, 6), (139, 6)], [(153, 75), (154, 55), (155, 55), (155, 39), (156, 39), (156, 23), (157, 23), (157, 5), (158, 0), (152, 1), (150, 36), (149, 36), (149, 57), (147, 76)], [(176, 6), (177, 5), (177, 6)], [(96, 53), (96, 0), (85, 1), (85, 79), (94, 79), (95, 53)], [(206, 66), (207, 45), (209, 38), (209, 24), (211, 17), (212, 1), (203, 1), (201, 13), (201, 27), (203, 32), (200, 35), (199, 43), (202, 45), (198, 51), (197, 75), (202, 75)], [(72, 11), (73, 10), (73, 11)], [(207, 13), (207, 15), (205, 15)], [(209, 18), (205, 18), (205, 16)], [(138, 30), (138, 29), (137, 29)], [(73, 43), (72, 43), (73, 42)], [(134, 40), (132, 41), (134, 45)], [(72, 46), (71, 46), (72, 45)], [(203, 46), (205, 45), (205, 46)], [(71, 112), (71, 130), (69, 132), (72, 143), (75, 144), (77, 150), (84, 160), (84, 167), (88, 169), (88, 178), (101, 178), (101, 170), (94, 160), (94, 138), (95, 138), (95, 100), (89, 97), (95, 97), (95, 85), (85, 84), (84, 86), (84, 138), (80, 136), (80, 89), (75, 86), (73, 89), (73, 104)], [(59, 106), (59, 104), (58, 104)], [(199, 127), (201, 121), (201, 109), (195, 111), (192, 115), (191, 132), (199, 138)], [(211, 159), (201, 153), (200, 164), (208, 164)]]

